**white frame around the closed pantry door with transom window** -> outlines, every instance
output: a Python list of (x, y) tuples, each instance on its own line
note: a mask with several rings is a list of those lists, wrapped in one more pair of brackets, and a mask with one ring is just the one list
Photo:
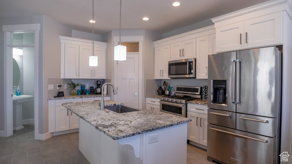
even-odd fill
[[(131, 54), (139, 54), (139, 109), (142, 109), (142, 44), (143, 36), (121, 36), (121, 42), (139, 42), (139, 52)], [(120, 37), (114, 36), (114, 46), (119, 44)], [(130, 53), (127, 53), (130, 54)], [(117, 86), (117, 61), (114, 61), (114, 86)], [(119, 93), (119, 91), (117, 91)], [(114, 95), (114, 100), (117, 100), (117, 95)]]

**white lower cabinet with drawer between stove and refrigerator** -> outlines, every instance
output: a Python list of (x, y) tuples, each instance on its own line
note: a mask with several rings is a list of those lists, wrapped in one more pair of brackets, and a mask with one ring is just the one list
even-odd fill
[(187, 139), (207, 146), (207, 106), (187, 104), (187, 118), (192, 119), (187, 123)]

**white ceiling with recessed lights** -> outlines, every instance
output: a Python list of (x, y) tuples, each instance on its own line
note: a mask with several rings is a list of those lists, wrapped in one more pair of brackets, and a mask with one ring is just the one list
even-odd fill
[[(122, 0), (121, 29), (166, 33), (267, 0)], [(120, 0), (94, 0), (94, 33), (119, 29)], [(0, 0), (0, 18), (47, 15), (70, 29), (92, 32), (92, 0)], [(148, 17), (148, 21), (142, 20)]]

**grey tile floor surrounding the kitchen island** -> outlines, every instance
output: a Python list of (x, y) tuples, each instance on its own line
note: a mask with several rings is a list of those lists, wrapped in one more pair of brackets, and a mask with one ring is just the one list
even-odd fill
[[(34, 140), (34, 124), (0, 137), (0, 164), (90, 164), (78, 150), (78, 132), (58, 135), (45, 141)], [(215, 164), (207, 152), (187, 145), (187, 164)]]

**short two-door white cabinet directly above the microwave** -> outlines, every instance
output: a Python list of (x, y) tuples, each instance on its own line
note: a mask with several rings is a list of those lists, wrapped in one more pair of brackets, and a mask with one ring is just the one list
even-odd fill
[(189, 39), (171, 44), (170, 60), (181, 60), (196, 57), (196, 39)]

